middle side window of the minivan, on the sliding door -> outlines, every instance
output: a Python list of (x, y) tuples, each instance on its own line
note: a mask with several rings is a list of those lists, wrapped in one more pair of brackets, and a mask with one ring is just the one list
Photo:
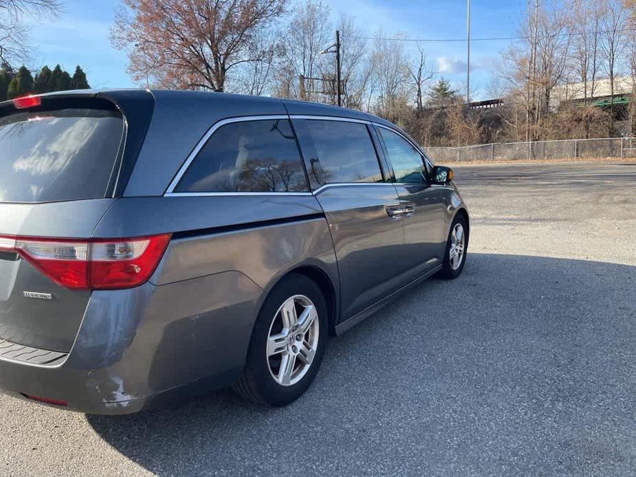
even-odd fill
[(384, 181), (366, 124), (305, 120), (303, 131), (314, 143), (307, 172), (318, 185)]

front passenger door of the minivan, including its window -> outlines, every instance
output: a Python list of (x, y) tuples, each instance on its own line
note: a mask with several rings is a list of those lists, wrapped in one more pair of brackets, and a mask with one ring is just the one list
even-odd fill
[(388, 164), (393, 170), (400, 202), (413, 210), (404, 218), (405, 260), (414, 275), (425, 274), (442, 263), (446, 244), (443, 186), (430, 183), (426, 158), (402, 134), (376, 126)]

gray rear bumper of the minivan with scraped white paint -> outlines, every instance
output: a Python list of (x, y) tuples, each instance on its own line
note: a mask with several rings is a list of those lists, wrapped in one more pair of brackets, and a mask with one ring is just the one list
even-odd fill
[(245, 363), (261, 293), (237, 271), (95, 291), (69, 355), (54, 366), (0, 359), (0, 390), (129, 414), (228, 386)]

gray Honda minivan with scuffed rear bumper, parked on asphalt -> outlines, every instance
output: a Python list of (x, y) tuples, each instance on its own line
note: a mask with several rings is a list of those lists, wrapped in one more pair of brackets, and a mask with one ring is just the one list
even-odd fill
[(192, 91), (0, 102), (0, 388), (136, 412), (294, 401), (338, 335), (457, 277), (452, 170), (373, 115)]

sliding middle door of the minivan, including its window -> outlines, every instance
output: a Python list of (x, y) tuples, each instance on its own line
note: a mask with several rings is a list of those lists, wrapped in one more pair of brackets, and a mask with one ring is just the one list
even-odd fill
[(399, 287), (403, 263), (399, 206), (366, 122), (294, 118), (314, 195), (325, 211), (340, 272), (341, 320)]

